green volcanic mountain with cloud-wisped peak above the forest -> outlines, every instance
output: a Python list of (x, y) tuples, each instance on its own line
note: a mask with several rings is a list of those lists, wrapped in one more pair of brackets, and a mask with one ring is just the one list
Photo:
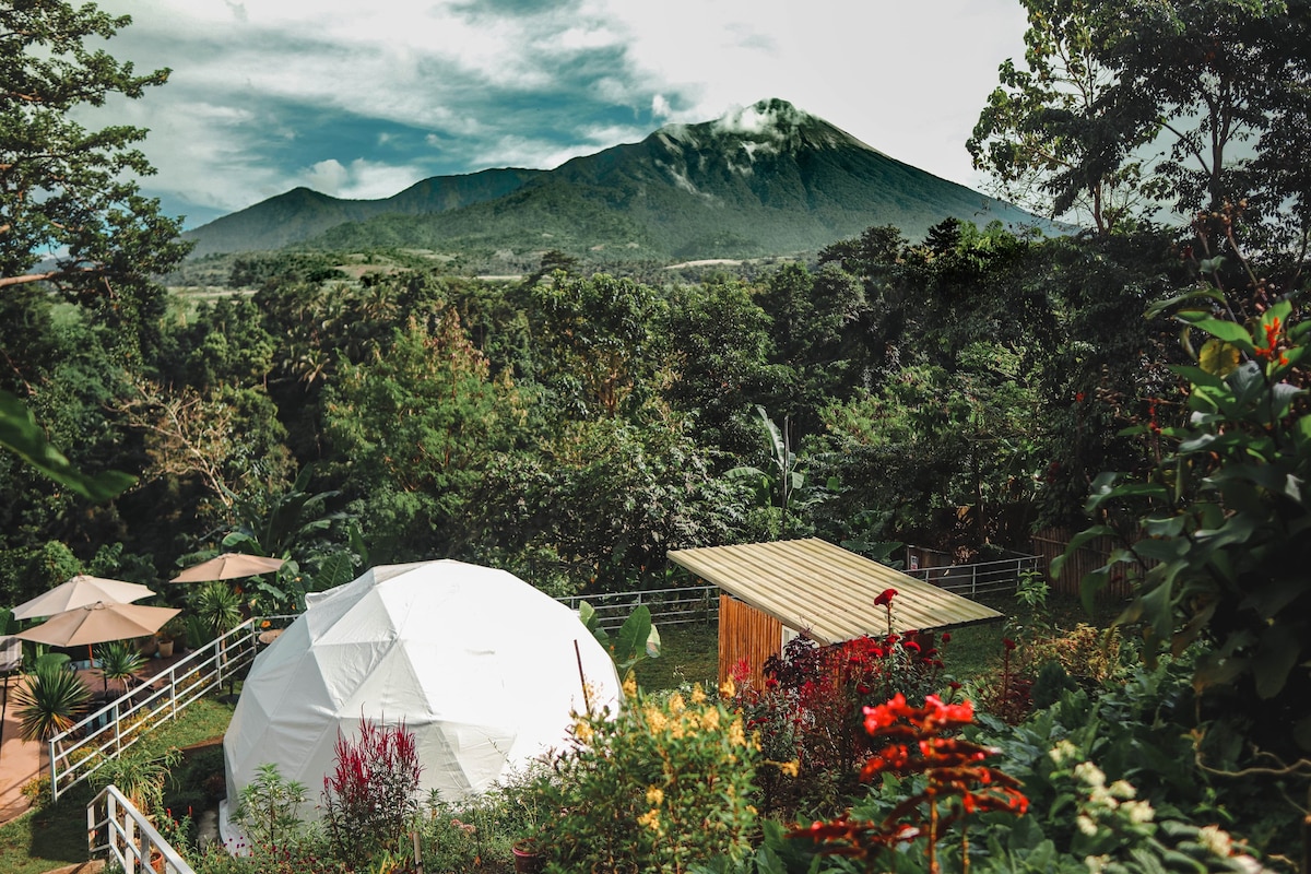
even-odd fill
[(186, 236), (197, 256), (304, 245), (741, 258), (814, 250), (871, 225), (918, 238), (948, 216), (1045, 224), (770, 100), (553, 170), (434, 177), (382, 200), (296, 189)]

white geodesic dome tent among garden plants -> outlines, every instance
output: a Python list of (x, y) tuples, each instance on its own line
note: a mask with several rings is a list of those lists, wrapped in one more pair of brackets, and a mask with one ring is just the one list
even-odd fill
[(223, 738), (224, 812), (277, 764), (308, 790), (302, 816), (316, 818), (337, 732), (358, 736), (361, 717), (414, 732), (421, 791), (481, 793), (564, 744), (586, 709), (583, 676), (593, 706), (614, 709), (610, 655), (577, 613), (518, 577), (458, 561), (374, 567), (313, 596), (256, 656)]

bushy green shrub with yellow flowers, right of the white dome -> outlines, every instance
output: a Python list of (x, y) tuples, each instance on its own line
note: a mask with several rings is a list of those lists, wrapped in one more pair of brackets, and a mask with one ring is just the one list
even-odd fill
[(742, 717), (700, 687), (633, 694), (619, 714), (582, 714), (553, 773), (536, 782), (548, 871), (687, 871), (742, 858), (758, 750)]

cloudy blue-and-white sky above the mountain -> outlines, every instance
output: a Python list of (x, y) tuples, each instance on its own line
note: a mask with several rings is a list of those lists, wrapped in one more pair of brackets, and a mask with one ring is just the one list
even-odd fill
[(780, 97), (979, 187), (965, 140), (1016, 0), (100, 0), (109, 48), (163, 88), (148, 194), (195, 227), (304, 185), (383, 198), (430, 177), (553, 168)]

